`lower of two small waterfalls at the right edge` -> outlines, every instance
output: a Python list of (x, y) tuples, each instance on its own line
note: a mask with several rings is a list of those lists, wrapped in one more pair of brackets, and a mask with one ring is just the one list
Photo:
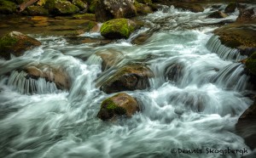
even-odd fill
[(220, 87), (242, 91), (249, 88), (248, 80), (249, 76), (245, 74), (243, 65), (241, 63), (234, 63), (218, 71), (212, 77), (211, 82), (216, 83)]

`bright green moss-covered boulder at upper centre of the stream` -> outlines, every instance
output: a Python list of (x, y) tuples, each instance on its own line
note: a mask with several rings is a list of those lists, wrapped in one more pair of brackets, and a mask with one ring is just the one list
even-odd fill
[(132, 20), (108, 20), (102, 24), (101, 35), (109, 39), (128, 38), (135, 31), (136, 27), (136, 23)]

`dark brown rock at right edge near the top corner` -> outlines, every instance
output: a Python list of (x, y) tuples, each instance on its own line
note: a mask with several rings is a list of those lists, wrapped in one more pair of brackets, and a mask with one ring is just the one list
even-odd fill
[(256, 21), (256, 13), (254, 8), (241, 9), (240, 14), (238, 15), (237, 22), (247, 22), (247, 21)]

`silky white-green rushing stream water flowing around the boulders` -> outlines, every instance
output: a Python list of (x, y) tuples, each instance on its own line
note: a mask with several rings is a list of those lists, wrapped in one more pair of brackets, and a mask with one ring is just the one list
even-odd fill
[[(214, 24), (236, 20), (238, 12), (222, 20), (207, 19), (210, 12), (211, 8), (191, 13), (163, 7), (139, 17), (156, 28), (142, 45), (131, 40), (147, 28), (104, 46), (31, 34), (43, 45), (24, 56), (0, 60), (0, 156), (205, 158), (250, 154), (235, 125), (253, 103), (248, 96), (255, 92), (237, 62), (243, 57), (211, 33), (217, 28)], [(81, 37), (102, 38), (99, 33)], [(120, 51), (124, 56), (102, 72), (102, 59), (94, 54), (102, 50)], [(54, 83), (41, 80), (22, 82), (24, 74), (15, 70), (37, 63), (67, 70), (71, 89), (61, 91)], [(150, 87), (125, 92), (137, 99), (142, 111), (129, 119), (101, 121), (96, 117), (100, 104), (113, 94), (103, 93), (98, 86), (131, 63), (148, 65), (154, 71)], [(11, 71), (10, 76), (4, 75)], [(24, 86), (29, 83), (40, 90), (31, 95)], [(225, 153), (228, 149), (247, 152)]]

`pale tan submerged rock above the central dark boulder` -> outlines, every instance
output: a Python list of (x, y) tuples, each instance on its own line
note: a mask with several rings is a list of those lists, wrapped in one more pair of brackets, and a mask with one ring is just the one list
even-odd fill
[(121, 59), (124, 58), (124, 54), (114, 49), (106, 49), (95, 53), (102, 58), (102, 71), (108, 70), (113, 65), (116, 65)]

